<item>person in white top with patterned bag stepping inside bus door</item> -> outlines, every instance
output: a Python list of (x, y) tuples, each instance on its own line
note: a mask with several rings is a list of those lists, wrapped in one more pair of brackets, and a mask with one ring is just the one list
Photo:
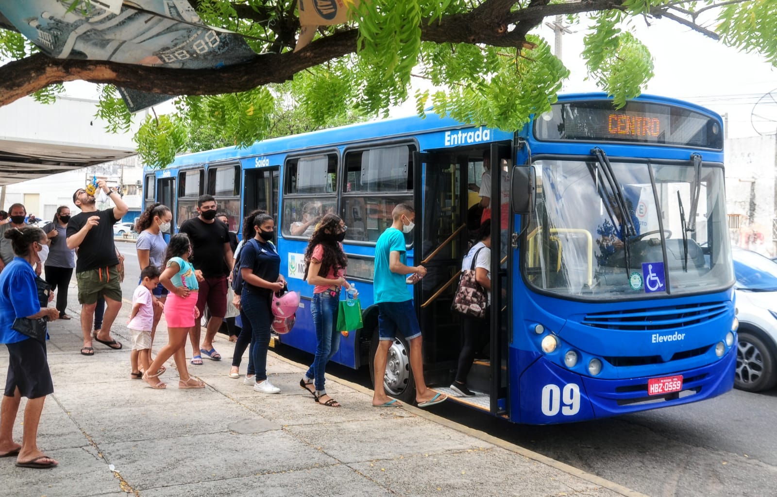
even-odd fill
[[(488, 292), (488, 301), (491, 303), (491, 219), (486, 219), (478, 229), (478, 243), (469, 249), (462, 260), (462, 271), (472, 268), (472, 260), (475, 260), (475, 279), (483, 289)], [(467, 388), (467, 376), (472, 369), (475, 360), (475, 352), (485, 345), (484, 338), (489, 338), (490, 313), (486, 313), (484, 319), (475, 317), (462, 317), (464, 320), (464, 344), (462, 352), (458, 355), (458, 368), (456, 377), (451, 384), (451, 390), (464, 397), (474, 397), (475, 393)]]

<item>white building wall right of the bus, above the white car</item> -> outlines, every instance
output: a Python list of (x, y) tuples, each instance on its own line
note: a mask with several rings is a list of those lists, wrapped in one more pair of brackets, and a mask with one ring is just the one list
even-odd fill
[(726, 140), (726, 210), (740, 215), (730, 229), (731, 243), (760, 254), (777, 255), (777, 136)]

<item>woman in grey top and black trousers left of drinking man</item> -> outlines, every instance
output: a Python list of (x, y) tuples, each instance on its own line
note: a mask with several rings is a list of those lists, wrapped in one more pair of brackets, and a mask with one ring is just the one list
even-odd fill
[(68, 222), (70, 222), (70, 208), (67, 205), (60, 205), (57, 207), (54, 221), (44, 226), (44, 232), (51, 240), (51, 250), (44, 264), (45, 280), (51, 285), (51, 291), (57, 295), (59, 318), (65, 320), (70, 319), (65, 310), (68, 307), (68, 287), (75, 268), (75, 250), (68, 248)]

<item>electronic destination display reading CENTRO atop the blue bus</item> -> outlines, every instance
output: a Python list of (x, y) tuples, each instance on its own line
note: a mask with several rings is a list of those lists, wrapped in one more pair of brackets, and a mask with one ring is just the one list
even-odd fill
[(545, 141), (633, 142), (721, 149), (716, 119), (664, 103), (632, 101), (614, 109), (609, 100), (556, 103), (535, 119)]

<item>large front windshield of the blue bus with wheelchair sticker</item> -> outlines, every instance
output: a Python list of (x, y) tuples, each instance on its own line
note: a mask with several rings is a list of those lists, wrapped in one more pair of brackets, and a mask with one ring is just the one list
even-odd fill
[(733, 284), (720, 164), (612, 161), (605, 167), (596, 159), (542, 159), (534, 165), (536, 211), (522, 268), (536, 289), (601, 300)]

